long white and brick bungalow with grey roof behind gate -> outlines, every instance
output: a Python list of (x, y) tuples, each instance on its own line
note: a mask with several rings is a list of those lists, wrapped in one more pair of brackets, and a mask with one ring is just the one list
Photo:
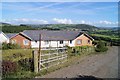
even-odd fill
[(25, 30), (12, 37), (10, 41), (21, 45), (22, 48), (39, 48), (40, 39), (42, 48), (92, 46), (94, 40), (80, 31)]

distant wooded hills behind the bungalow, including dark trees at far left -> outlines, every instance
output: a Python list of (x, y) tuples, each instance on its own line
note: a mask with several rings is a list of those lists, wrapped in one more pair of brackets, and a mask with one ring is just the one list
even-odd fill
[(18, 33), (23, 30), (81, 30), (96, 31), (99, 28), (87, 24), (20, 24), (11, 25), (2, 23), (2, 31), (5, 33)]

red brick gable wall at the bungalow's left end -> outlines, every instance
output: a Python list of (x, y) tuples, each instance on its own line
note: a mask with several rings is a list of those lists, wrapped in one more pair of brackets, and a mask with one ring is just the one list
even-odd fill
[(27, 39), (27, 38), (24, 37), (24, 36), (21, 35), (21, 34), (18, 34), (18, 35), (16, 35), (15, 37), (11, 38), (11, 39), (10, 39), (10, 42), (12, 42), (12, 40), (15, 40), (15, 41), (16, 41), (16, 44), (20, 45), (21, 48), (30, 48), (30, 46), (31, 46), (31, 41), (30, 41), (29, 39), (27, 39), (27, 40), (29, 41), (29, 44), (28, 44), (28, 45), (24, 45), (24, 41), (23, 41), (23, 40), (25, 40), (25, 39)]

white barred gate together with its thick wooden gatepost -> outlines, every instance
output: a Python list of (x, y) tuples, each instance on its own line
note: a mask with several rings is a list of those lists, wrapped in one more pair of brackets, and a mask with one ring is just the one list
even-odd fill
[[(38, 51), (34, 51), (34, 68), (35, 72), (38, 72), (43, 69), (48, 69), (52, 66), (58, 65), (60, 63), (64, 63), (67, 61), (67, 48), (47, 48), (41, 49), (41, 53), (38, 59)], [(38, 60), (38, 61), (36, 61)], [(39, 63), (39, 65), (38, 65)]]

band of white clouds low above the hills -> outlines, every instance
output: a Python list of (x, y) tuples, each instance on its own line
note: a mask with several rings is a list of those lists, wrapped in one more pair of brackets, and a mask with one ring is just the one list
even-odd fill
[(53, 18), (49, 21), (43, 20), (43, 19), (18, 18), (18, 19), (11, 19), (11, 20), (2, 19), (1, 22), (6, 22), (10, 24), (89, 24), (97, 27), (117, 27), (118, 26), (118, 22), (112, 22), (108, 20), (100, 20), (100, 21), (74, 20), (73, 22), (71, 19), (66, 19), (66, 18), (63, 18), (63, 19)]

